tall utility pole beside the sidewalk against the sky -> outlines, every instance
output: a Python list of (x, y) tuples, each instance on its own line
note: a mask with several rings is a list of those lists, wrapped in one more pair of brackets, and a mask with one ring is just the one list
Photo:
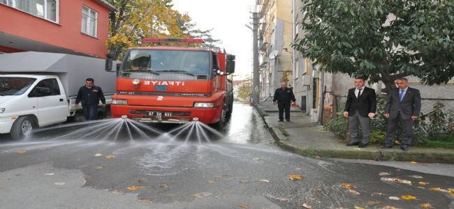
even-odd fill
[(258, 78), (258, 13), (252, 13), (252, 45), (253, 45), (253, 72), (252, 72), (252, 100), (258, 104), (260, 84)]

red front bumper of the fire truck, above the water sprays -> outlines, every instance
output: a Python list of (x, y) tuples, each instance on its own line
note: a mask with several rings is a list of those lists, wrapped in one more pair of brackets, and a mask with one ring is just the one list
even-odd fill
[[(216, 123), (219, 121), (222, 106), (214, 108), (193, 107), (144, 107), (135, 105), (112, 104), (110, 106), (112, 118), (120, 118), (124, 115), (129, 119), (142, 123), (188, 123), (193, 118), (198, 118), (202, 123)], [(171, 113), (172, 116), (149, 116), (149, 112)]]

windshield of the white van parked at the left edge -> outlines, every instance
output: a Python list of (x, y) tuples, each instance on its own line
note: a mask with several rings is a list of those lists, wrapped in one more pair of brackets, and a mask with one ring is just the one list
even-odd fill
[(31, 77), (0, 77), (0, 95), (21, 95), (35, 81)]

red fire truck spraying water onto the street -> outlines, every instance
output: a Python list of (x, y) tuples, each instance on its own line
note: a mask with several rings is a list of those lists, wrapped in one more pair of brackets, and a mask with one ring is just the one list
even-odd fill
[[(202, 39), (144, 38), (144, 42), (184, 44)], [(174, 44), (175, 45), (175, 44)], [(112, 53), (106, 70), (112, 70)], [(117, 65), (117, 93), (112, 96), (113, 118), (142, 123), (200, 121), (224, 129), (232, 114), (235, 56), (197, 47), (134, 47)]]

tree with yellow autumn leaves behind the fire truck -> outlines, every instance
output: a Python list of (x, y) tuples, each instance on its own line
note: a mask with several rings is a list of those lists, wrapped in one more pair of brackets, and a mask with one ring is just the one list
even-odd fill
[(115, 59), (128, 47), (142, 44), (142, 38), (188, 38), (180, 28), (188, 15), (173, 10), (171, 0), (108, 0), (118, 10), (110, 13), (106, 45)]

